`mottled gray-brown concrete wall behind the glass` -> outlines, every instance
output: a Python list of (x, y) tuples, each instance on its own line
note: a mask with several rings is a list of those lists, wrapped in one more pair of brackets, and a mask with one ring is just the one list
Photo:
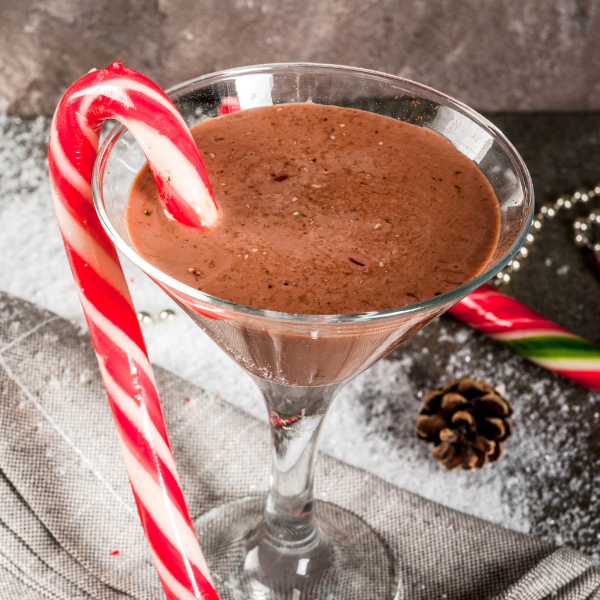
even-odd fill
[(484, 111), (600, 110), (600, 0), (0, 0), (0, 112), (51, 114), (73, 80), (119, 59), (163, 87), (305, 60)]

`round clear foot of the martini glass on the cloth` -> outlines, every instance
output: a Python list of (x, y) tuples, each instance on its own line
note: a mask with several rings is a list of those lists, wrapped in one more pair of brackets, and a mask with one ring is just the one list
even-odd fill
[(398, 600), (393, 556), (362, 519), (315, 502), (317, 536), (302, 548), (271, 545), (260, 527), (266, 495), (211, 510), (196, 532), (221, 600)]

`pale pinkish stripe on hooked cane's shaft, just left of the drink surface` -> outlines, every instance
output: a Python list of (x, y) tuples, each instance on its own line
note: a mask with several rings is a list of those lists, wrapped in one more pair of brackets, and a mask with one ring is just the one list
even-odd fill
[(125, 298), (131, 310), (135, 311), (121, 265), (107, 254), (104, 248), (87, 232), (85, 226), (71, 215), (64, 206), (65, 200), (55, 194), (54, 190), (52, 192), (54, 210), (63, 236), (82, 260), (89, 264), (102, 279), (106, 280), (107, 285), (115, 288)]

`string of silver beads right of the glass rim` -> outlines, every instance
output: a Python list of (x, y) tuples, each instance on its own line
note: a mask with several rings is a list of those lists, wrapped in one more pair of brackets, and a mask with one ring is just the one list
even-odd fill
[[(577, 190), (572, 196), (561, 196), (556, 200), (554, 206), (542, 206), (533, 218), (531, 229), (525, 238), (525, 243), (507, 265), (500, 271), (494, 280), (494, 284), (506, 284), (510, 282), (511, 275), (518, 271), (523, 259), (529, 256), (529, 248), (534, 243), (539, 231), (542, 229), (544, 221), (553, 219), (559, 211), (570, 210), (576, 204), (587, 204), (593, 198), (600, 199), (600, 184), (590, 190)], [(587, 217), (578, 217), (573, 221), (574, 241), (579, 248), (589, 248), (600, 260), (600, 239), (595, 239), (592, 235), (592, 228), (595, 225), (600, 226), (600, 209), (594, 209)]]

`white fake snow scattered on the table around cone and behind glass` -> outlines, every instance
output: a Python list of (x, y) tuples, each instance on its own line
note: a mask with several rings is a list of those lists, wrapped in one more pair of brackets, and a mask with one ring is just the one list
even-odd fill
[[(48, 127), (44, 118), (0, 116), (0, 290), (85, 331), (50, 197)], [(153, 317), (142, 325), (151, 360), (266, 420), (243, 370), (136, 267), (123, 263), (136, 308)], [(158, 319), (165, 309), (176, 317)], [(448, 472), (416, 438), (414, 424), (425, 392), (466, 374), (497, 386), (512, 402), (514, 434), (497, 463)], [(84, 382), (91, 374), (73, 376)], [(322, 449), (436, 502), (598, 558), (599, 429), (600, 394), (442, 318), (341, 391), (324, 424)]]

